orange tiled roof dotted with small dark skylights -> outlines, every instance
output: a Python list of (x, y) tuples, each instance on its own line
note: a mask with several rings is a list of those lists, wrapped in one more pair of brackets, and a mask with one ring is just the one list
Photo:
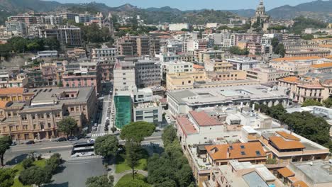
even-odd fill
[[(236, 143), (232, 145), (206, 145), (205, 148), (210, 157), (214, 160), (266, 157), (260, 142)], [(228, 149), (229, 157), (227, 157)]]

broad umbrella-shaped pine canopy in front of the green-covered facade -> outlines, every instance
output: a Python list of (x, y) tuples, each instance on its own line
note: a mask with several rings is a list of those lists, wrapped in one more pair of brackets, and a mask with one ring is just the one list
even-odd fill
[(134, 140), (135, 142), (142, 142), (145, 137), (149, 137), (155, 132), (155, 124), (145, 121), (138, 121), (125, 125), (121, 130), (122, 140)]

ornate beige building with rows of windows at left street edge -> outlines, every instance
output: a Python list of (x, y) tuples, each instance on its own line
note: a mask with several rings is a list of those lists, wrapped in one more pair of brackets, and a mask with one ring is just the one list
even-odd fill
[(26, 90), (29, 102), (0, 101), (0, 135), (13, 140), (42, 140), (62, 136), (57, 123), (72, 117), (80, 130), (95, 112), (94, 87), (57, 87)]

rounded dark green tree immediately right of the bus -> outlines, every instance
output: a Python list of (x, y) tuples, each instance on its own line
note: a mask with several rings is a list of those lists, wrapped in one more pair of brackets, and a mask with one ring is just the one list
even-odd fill
[(94, 152), (103, 157), (112, 157), (118, 150), (118, 138), (115, 135), (97, 137), (94, 142)]

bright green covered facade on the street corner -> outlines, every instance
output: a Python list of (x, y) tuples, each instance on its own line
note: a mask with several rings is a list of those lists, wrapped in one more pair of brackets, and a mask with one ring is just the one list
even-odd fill
[(116, 128), (123, 128), (124, 125), (131, 123), (131, 96), (114, 96), (116, 109), (115, 125)]

